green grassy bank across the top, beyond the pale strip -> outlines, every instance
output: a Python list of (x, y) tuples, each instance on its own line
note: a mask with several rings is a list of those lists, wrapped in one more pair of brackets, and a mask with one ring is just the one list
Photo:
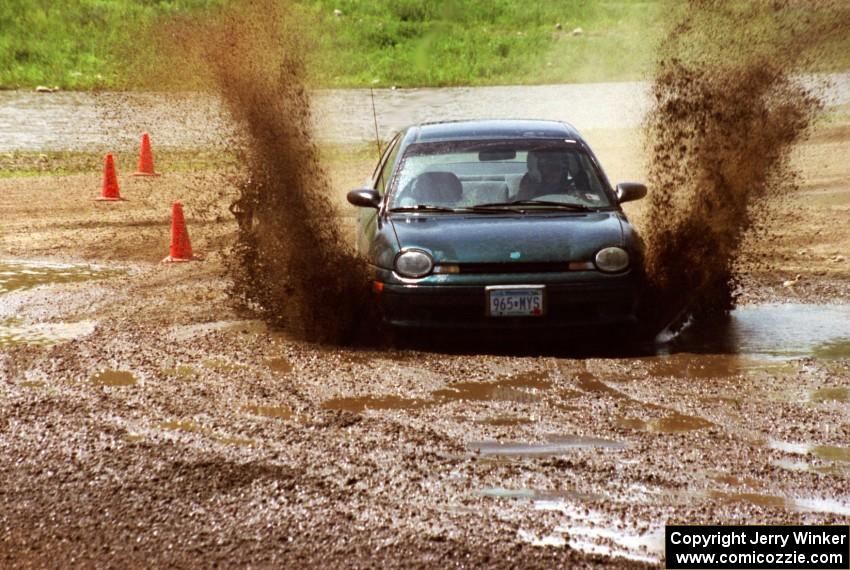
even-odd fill
[[(132, 84), (145, 28), (231, 0), (5, 0), (0, 86)], [(603, 81), (641, 77), (659, 1), (299, 0), (322, 87)], [(581, 28), (581, 31), (575, 31)], [(129, 48), (129, 49), (128, 49)]]

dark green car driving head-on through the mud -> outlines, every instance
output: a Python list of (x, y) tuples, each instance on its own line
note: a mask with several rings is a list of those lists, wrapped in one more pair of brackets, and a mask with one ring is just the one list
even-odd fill
[(389, 144), (360, 206), (357, 248), (395, 327), (622, 329), (636, 324), (640, 240), (571, 126), (463, 121)]

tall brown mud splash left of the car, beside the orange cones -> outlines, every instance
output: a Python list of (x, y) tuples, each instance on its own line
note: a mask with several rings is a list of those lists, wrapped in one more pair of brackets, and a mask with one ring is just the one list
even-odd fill
[[(235, 297), (307, 340), (344, 342), (363, 322), (366, 267), (346, 245), (311, 132), (308, 52), (290, 2), (237, 1), (158, 34), (179, 54), (166, 82), (200, 84), (235, 123), (244, 172), (231, 212)], [(162, 70), (156, 72), (161, 79)]]

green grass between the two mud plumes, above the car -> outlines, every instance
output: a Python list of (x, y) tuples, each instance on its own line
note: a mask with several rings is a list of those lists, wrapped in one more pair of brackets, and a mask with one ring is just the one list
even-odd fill
[[(657, 0), (304, 3), (317, 46), (313, 77), (345, 87), (640, 78), (651, 66), (660, 6)], [(576, 28), (580, 35), (573, 35)]]

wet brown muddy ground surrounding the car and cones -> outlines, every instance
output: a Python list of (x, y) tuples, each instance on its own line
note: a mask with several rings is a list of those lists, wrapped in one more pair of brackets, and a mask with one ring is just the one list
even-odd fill
[[(848, 124), (731, 324), (640, 354), (301, 343), (228, 301), (224, 173), (0, 180), (0, 565), (624, 567), (668, 521), (846, 523)], [(641, 178), (636, 133), (588, 135)], [(203, 262), (158, 264), (175, 199)]]

